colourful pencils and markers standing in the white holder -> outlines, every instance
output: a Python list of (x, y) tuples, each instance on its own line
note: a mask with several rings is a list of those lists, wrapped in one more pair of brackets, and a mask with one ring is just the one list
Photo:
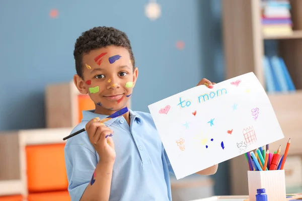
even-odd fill
[(284, 154), (281, 156), (281, 145), (278, 150), (270, 153), (269, 145), (259, 147), (255, 152), (245, 153), (250, 171), (283, 170), (286, 162), (290, 138), (286, 144)]

